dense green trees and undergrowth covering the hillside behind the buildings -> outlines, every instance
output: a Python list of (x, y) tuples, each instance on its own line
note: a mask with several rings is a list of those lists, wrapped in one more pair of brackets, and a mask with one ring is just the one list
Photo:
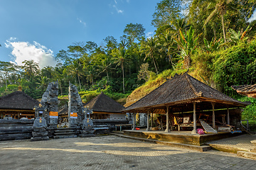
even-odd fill
[[(229, 96), (241, 98), (232, 85), (256, 84), (256, 21), (248, 22), (255, 0), (163, 0), (156, 4), (152, 25), (156, 33), (145, 37), (140, 23), (128, 23), (120, 40), (103, 38), (75, 42), (55, 55), (55, 67), (39, 68), (0, 62), (0, 96), (23, 91), (41, 98), (50, 81), (58, 81), (59, 94), (68, 94), (69, 81), (78, 86), (83, 101), (104, 91), (121, 100), (134, 89), (150, 91), (175, 73), (189, 73)], [(144, 84), (144, 86), (142, 86)], [(157, 84), (157, 83), (156, 83)], [(255, 99), (244, 117), (255, 118)]]

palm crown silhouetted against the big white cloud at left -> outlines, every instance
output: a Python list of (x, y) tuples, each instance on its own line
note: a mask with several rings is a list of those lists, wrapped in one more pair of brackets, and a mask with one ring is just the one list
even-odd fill
[(24, 69), (25, 74), (28, 75), (30, 81), (32, 81), (32, 77), (40, 71), (40, 68), (38, 66), (37, 62), (34, 62), (33, 60), (25, 60), (22, 62), (24, 65), (22, 69)]

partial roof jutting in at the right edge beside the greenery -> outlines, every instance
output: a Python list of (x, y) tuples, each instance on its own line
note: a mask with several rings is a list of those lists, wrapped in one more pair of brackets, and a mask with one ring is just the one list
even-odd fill
[(248, 97), (256, 98), (256, 84), (253, 85), (242, 85), (242, 86), (231, 86), (232, 89)]

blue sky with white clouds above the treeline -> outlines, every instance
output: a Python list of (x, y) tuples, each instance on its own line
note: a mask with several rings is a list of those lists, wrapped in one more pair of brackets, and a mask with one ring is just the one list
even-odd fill
[(142, 23), (150, 35), (159, 1), (0, 0), (0, 60), (21, 65), (33, 59), (40, 67), (54, 66), (59, 50), (73, 42), (102, 45), (108, 35), (119, 41), (128, 23)]

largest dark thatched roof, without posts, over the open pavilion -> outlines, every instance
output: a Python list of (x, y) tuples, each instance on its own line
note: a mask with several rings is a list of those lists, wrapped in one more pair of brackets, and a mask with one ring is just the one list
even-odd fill
[[(136, 103), (125, 108), (123, 112), (136, 111), (145, 113), (149, 108), (188, 105), (188, 103), (192, 103), (193, 101), (199, 103), (201, 109), (210, 109), (210, 102), (219, 103), (217, 108), (248, 105), (203, 84), (186, 72), (176, 75), (172, 79), (168, 79), (154, 91), (151, 91), (151, 93)], [(185, 111), (186, 109), (183, 107), (182, 110)]]

